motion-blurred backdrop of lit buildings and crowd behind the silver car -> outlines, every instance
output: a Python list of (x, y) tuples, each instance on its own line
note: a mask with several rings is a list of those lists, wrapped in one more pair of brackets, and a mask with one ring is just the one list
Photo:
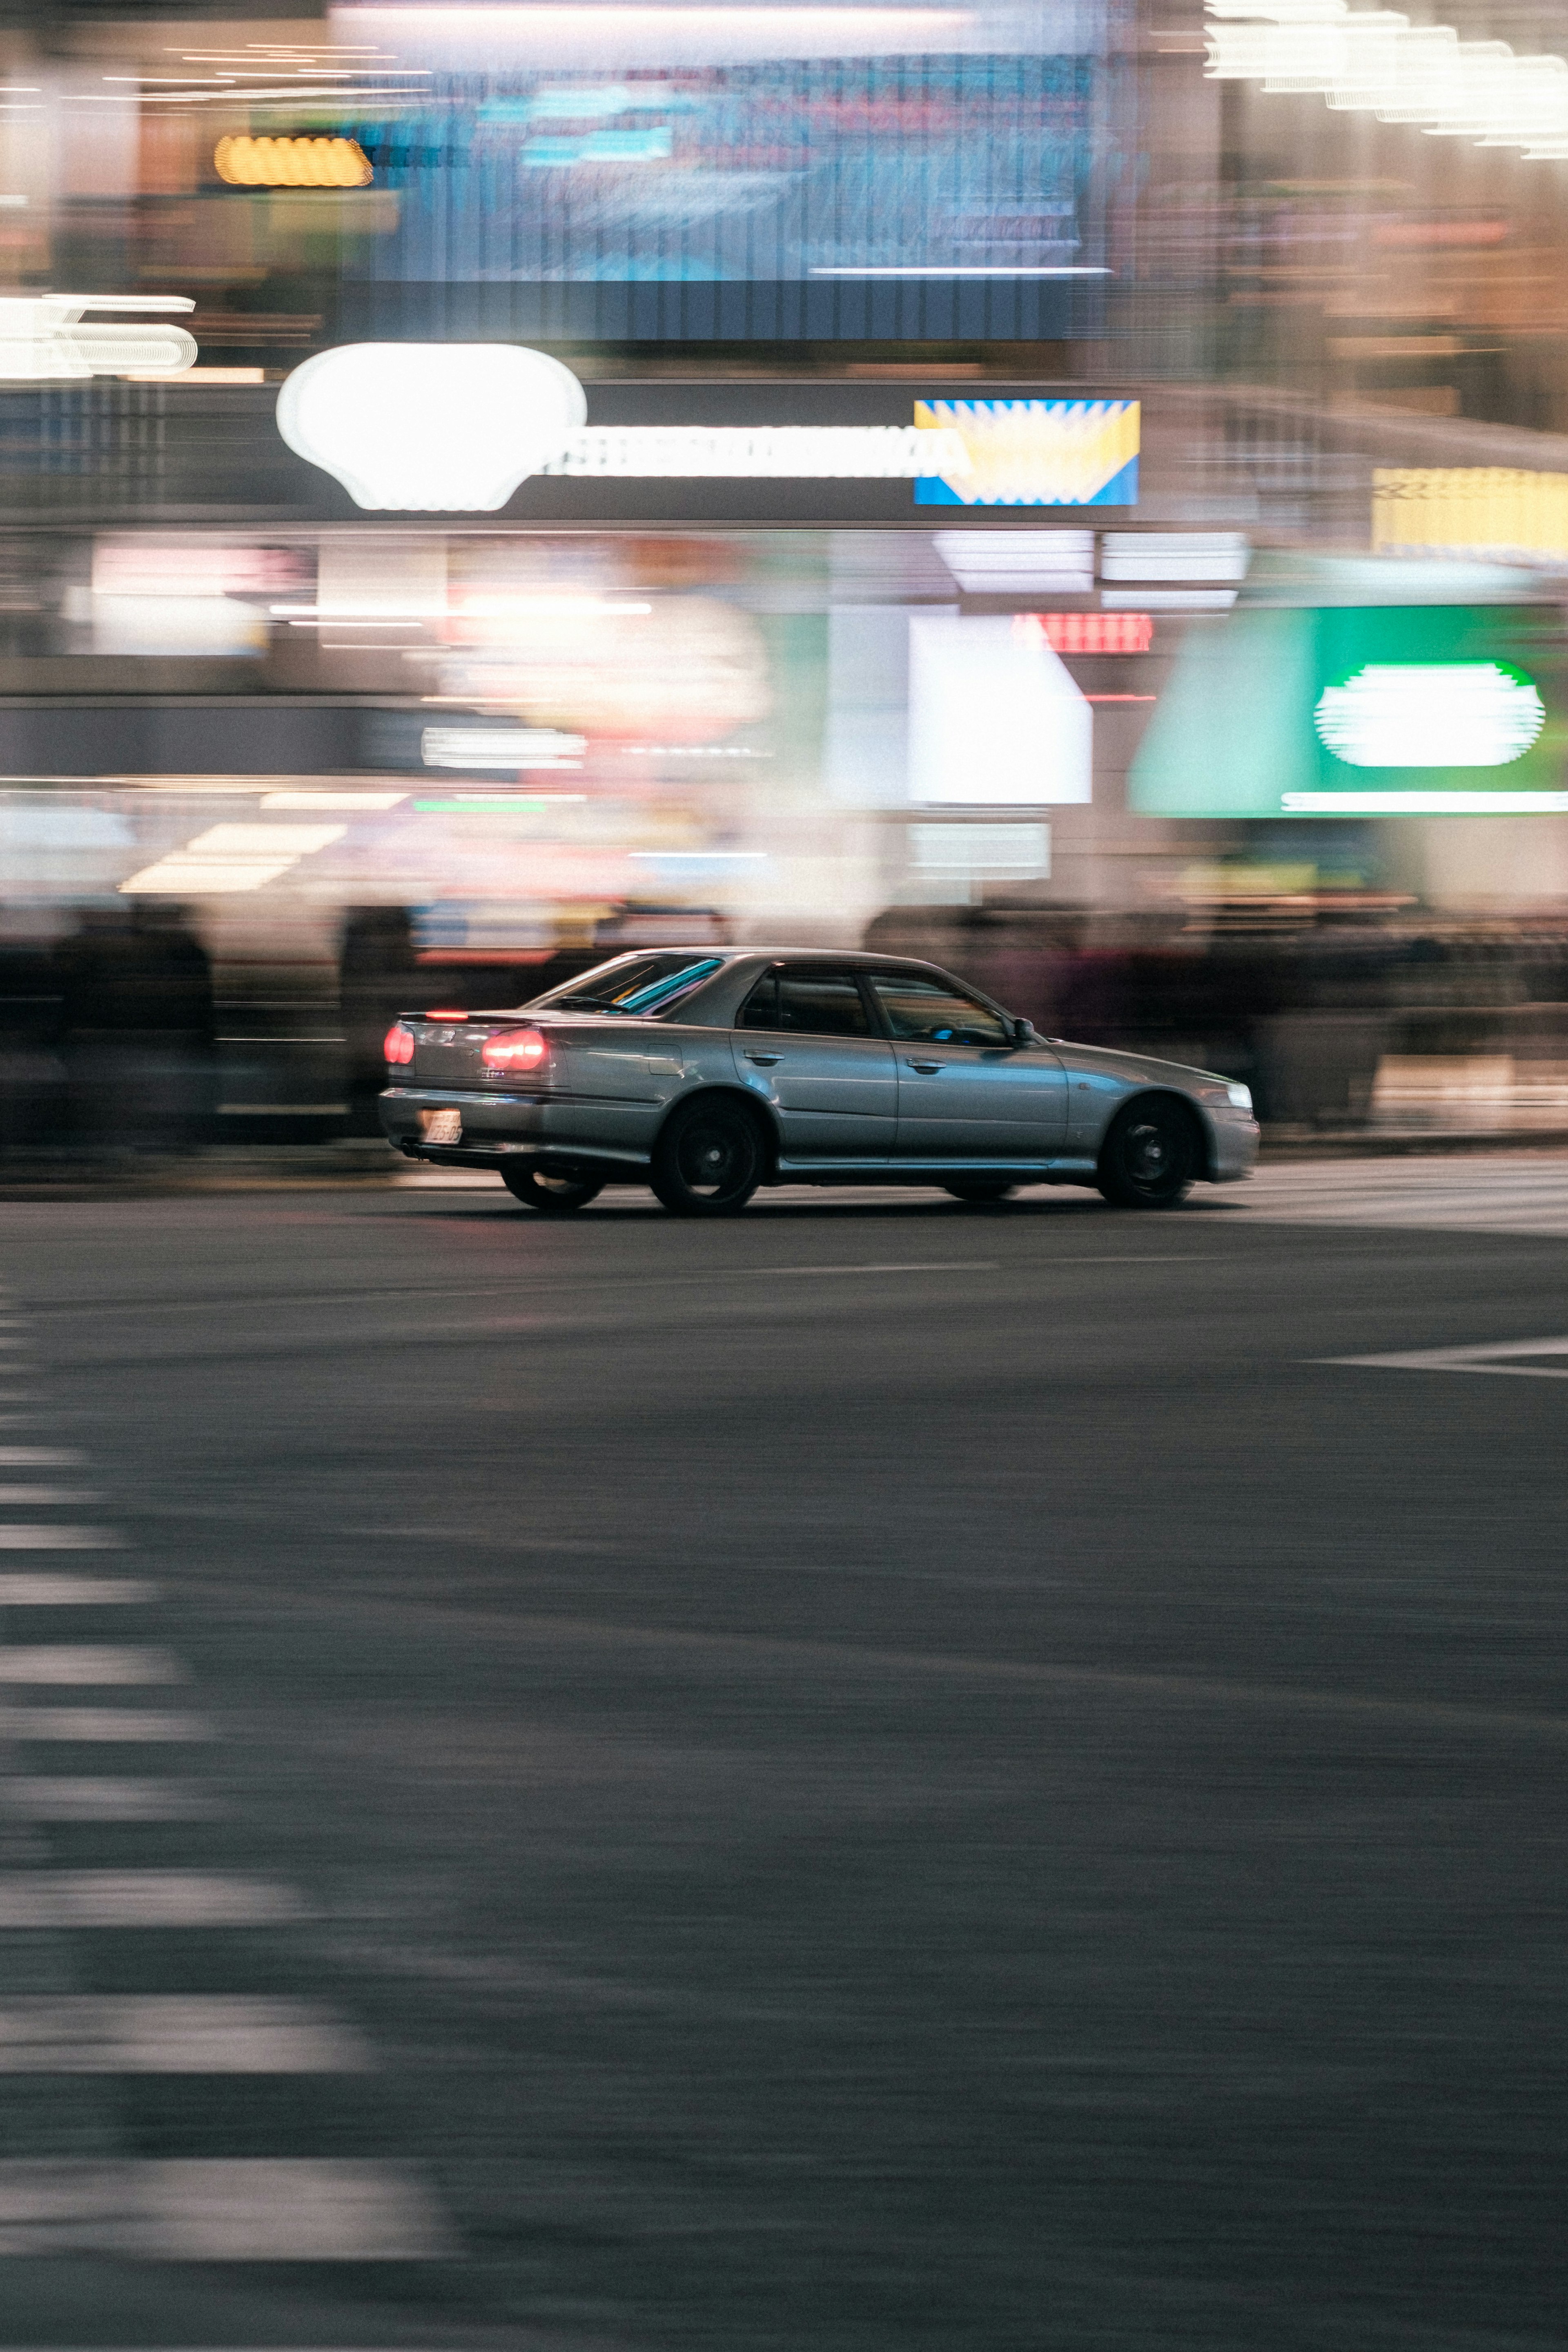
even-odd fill
[[(1448, 9), (1415, 99), (1335, 9), (9, 16), (7, 1134), (71, 1129), (110, 941), (127, 1004), (172, 929), (209, 971), (167, 1051), (127, 1016), (165, 1148), (362, 1127), (437, 974), (703, 924), (926, 941), (1288, 1124), (1568, 1127), (1568, 223), (1500, 64), (1568, 9)], [(1493, 115), (1439, 120), (1465, 42)], [(193, 303), (195, 367), (42, 362), (73, 287)], [(602, 435), (1023, 473), (362, 510), (275, 405), (364, 341), (545, 348)], [(1439, 670), (1519, 748), (1326, 736)]]

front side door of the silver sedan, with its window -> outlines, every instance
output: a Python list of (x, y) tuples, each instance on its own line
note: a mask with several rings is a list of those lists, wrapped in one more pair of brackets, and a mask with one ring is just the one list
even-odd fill
[(898, 1058), (898, 1160), (1056, 1160), (1067, 1073), (1039, 1040), (1013, 1044), (1001, 1014), (940, 974), (872, 971)]

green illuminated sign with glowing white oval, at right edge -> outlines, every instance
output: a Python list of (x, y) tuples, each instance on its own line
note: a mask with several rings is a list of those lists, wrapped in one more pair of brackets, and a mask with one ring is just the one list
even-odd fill
[(1143, 816), (1568, 809), (1561, 623), (1535, 604), (1239, 609), (1192, 630), (1128, 779)]

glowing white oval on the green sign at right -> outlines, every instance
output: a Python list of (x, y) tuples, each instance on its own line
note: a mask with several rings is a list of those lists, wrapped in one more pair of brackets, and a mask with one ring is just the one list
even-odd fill
[(1347, 767), (1507, 767), (1547, 710), (1533, 682), (1497, 661), (1410, 661), (1368, 663), (1324, 687), (1312, 722)]

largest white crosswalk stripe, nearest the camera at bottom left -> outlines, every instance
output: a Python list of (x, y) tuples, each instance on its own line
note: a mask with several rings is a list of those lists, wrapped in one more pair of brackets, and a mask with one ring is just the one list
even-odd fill
[(202, 2159), (0, 2161), (0, 2256), (165, 2263), (397, 2263), (454, 2253), (397, 2164)]

